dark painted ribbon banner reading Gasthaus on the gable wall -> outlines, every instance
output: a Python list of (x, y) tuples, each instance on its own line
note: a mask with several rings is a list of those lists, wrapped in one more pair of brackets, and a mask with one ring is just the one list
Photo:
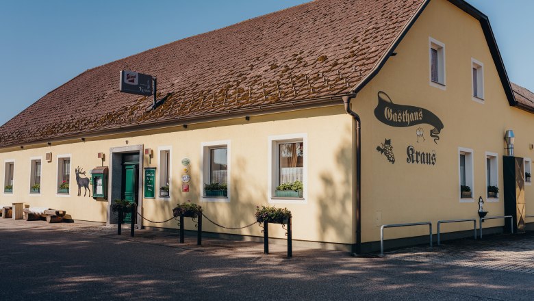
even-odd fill
[[(434, 138), (435, 144), (440, 140), (440, 132), (443, 129), (443, 122), (435, 114), (422, 107), (413, 105), (396, 105), (384, 92), (378, 92), (378, 105), (374, 109), (374, 116), (385, 125), (390, 127), (411, 127), (414, 125), (428, 124), (434, 127), (430, 135)], [(419, 128), (420, 133), (422, 129)], [(418, 133), (418, 135), (420, 135)], [(421, 134), (422, 135), (422, 134)]]

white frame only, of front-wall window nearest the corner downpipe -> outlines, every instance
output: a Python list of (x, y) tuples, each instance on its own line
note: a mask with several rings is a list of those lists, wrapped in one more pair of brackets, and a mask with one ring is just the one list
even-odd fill
[[(304, 148), (303, 160), (303, 197), (302, 198), (278, 198), (274, 196), (276, 183), (278, 182), (278, 148), (280, 142), (295, 142), (301, 140)], [(308, 134), (294, 133), (287, 135), (273, 135), (268, 137), (268, 160), (267, 160), (267, 200), (270, 204), (307, 204), (308, 202)]]

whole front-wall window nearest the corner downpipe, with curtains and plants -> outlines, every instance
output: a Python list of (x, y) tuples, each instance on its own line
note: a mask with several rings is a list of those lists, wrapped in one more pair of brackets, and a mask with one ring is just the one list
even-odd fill
[(306, 140), (306, 134), (270, 137), (269, 196), (271, 202), (277, 202), (281, 198), (302, 202), (305, 198), (307, 189)]

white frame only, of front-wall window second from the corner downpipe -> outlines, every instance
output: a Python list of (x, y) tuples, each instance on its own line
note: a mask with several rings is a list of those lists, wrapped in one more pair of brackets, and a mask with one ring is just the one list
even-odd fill
[[(204, 183), (205, 176), (209, 176), (209, 150), (216, 146), (226, 146), (227, 148), (227, 160), (228, 160), (228, 169), (227, 169), (227, 187), (228, 192), (227, 196), (223, 197), (212, 197), (204, 196)], [(230, 140), (218, 140), (210, 142), (201, 142), (201, 168), (200, 168), (200, 196), (201, 202), (230, 202), (231, 201), (231, 142)]]

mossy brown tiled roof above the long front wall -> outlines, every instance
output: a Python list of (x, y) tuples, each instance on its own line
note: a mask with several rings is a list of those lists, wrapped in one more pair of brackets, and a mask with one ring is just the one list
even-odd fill
[[(0, 127), (0, 146), (350, 92), (424, 0), (316, 0), (81, 73)], [(157, 77), (163, 105), (118, 92), (120, 70)]]

